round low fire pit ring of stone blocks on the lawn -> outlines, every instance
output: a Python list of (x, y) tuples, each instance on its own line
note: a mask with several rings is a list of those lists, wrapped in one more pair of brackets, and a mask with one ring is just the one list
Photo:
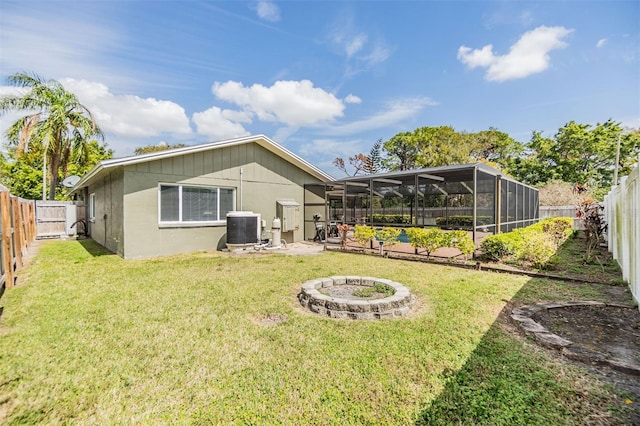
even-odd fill
[[(385, 292), (371, 289), (376, 286), (384, 288)], [(358, 296), (361, 293), (370, 295)], [(407, 315), (415, 297), (408, 288), (391, 280), (333, 276), (302, 284), (298, 300), (311, 312), (331, 318), (381, 319)]]

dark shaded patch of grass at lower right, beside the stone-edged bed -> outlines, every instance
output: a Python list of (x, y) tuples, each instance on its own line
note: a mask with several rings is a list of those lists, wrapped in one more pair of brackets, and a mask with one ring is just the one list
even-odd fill
[[(584, 379), (578, 369), (532, 349), (508, 325), (514, 306), (529, 304), (543, 293), (562, 300), (561, 289), (567, 288), (557, 281), (528, 280), (465, 365), (443, 373), (444, 389), (418, 414), (416, 424), (630, 424), (627, 416), (633, 413), (620, 398)], [(586, 294), (582, 291), (586, 289), (570, 291), (565, 298), (580, 298)], [(599, 423), (603, 419), (605, 423)]]

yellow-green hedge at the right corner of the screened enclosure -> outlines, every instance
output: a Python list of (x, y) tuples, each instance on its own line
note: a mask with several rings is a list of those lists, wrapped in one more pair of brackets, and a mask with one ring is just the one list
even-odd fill
[(556, 263), (558, 248), (573, 235), (573, 219), (553, 217), (526, 228), (491, 235), (482, 241), (483, 254), (500, 261), (529, 262), (548, 269)]

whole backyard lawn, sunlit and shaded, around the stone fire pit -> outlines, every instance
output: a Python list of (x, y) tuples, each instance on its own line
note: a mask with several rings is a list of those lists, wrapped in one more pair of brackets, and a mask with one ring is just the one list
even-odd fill
[[(341, 274), (403, 283), (414, 314), (302, 310), (300, 283)], [(584, 424), (619, 403), (497, 321), (578, 291), (563, 283), (345, 253), (124, 261), (91, 241), (45, 244), (20, 280), (0, 423)]]

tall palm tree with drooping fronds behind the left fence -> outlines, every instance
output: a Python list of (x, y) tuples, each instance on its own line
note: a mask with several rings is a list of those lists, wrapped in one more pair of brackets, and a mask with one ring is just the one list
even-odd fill
[[(82, 162), (87, 156), (89, 138), (104, 139), (102, 130), (89, 109), (58, 81), (28, 73), (13, 74), (7, 80), (13, 86), (29, 89), (20, 96), (7, 95), (0, 99), (0, 114), (27, 113), (7, 130), (7, 138), (18, 153), (27, 150), (29, 144), (44, 148), (44, 165), (51, 174), (49, 199), (53, 200), (60, 171), (66, 174), (70, 160)], [(43, 173), (43, 185), (46, 177)]]

